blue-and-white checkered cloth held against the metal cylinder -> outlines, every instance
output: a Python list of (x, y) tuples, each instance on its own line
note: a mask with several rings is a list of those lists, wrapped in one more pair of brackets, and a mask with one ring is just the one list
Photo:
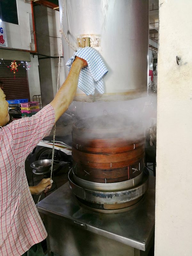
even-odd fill
[(87, 95), (93, 95), (95, 89), (103, 94), (105, 91), (102, 77), (108, 70), (99, 53), (91, 47), (78, 49), (66, 63), (69, 70), (76, 56), (86, 60), (88, 64), (80, 72), (78, 87)]

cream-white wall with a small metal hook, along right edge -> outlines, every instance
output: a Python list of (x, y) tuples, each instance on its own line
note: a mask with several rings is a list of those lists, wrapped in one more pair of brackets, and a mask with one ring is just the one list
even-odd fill
[(192, 255), (191, 10), (159, 1), (155, 256)]

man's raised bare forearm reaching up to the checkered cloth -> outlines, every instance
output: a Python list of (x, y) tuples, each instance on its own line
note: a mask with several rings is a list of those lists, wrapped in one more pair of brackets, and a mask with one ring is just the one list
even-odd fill
[(84, 67), (84, 62), (81, 59), (75, 59), (70, 72), (65, 80), (65, 82), (60, 87), (59, 91), (55, 95), (55, 98), (50, 103), (55, 110), (55, 122), (60, 118), (60, 116), (68, 109), (71, 101), (73, 100), (81, 69)]

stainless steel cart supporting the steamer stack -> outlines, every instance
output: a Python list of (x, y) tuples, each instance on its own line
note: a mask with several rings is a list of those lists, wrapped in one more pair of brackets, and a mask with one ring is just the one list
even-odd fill
[(143, 202), (116, 214), (81, 207), (68, 182), (38, 204), (48, 233), (48, 255), (147, 256), (154, 242), (155, 177)]

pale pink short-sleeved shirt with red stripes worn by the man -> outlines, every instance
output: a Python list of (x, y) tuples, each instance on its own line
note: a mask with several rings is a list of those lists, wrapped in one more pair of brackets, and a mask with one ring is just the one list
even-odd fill
[(0, 255), (22, 255), (46, 236), (25, 174), (25, 160), (55, 122), (49, 104), (0, 128)]

